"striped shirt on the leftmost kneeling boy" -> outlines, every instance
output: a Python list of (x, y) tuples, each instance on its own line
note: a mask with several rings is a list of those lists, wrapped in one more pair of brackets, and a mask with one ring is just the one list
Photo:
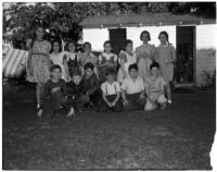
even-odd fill
[(49, 79), (43, 86), (43, 94), (40, 97), (40, 107), (43, 106), (44, 98), (51, 95), (53, 88), (60, 88), (63, 96), (67, 95), (67, 88), (64, 79), (60, 78), (58, 83), (53, 83), (52, 79)]

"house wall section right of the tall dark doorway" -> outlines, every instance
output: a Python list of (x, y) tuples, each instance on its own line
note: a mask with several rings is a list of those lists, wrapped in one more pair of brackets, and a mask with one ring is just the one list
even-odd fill
[[(196, 85), (210, 84), (216, 70), (216, 25), (196, 26)], [(210, 77), (208, 79), (208, 77)]]

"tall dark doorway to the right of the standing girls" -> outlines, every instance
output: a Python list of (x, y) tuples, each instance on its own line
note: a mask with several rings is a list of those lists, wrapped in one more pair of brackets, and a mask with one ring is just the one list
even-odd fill
[(194, 83), (195, 26), (177, 26), (177, 83)]

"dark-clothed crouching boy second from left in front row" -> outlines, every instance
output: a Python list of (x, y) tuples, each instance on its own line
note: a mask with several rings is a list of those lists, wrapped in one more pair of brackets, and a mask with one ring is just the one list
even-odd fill
[(80, 70), (77, 69), (72, 73), (72, 81), (67, 86), (69, 102), (76, 111), (81, 112), (85, 105), (89, 102), (89, 97), (87, 96), (87, 88)]

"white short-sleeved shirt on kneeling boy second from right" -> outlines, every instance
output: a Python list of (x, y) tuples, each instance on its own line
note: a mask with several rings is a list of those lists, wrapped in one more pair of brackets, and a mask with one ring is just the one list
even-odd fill
[(127, 94), (136, 94), (144, 90), (144, 83), (141, 77), (137, 77), (136, 81), (132, 81), (131, 77), (125, 78), (122, 84), (122, 89), (126, 90)]

